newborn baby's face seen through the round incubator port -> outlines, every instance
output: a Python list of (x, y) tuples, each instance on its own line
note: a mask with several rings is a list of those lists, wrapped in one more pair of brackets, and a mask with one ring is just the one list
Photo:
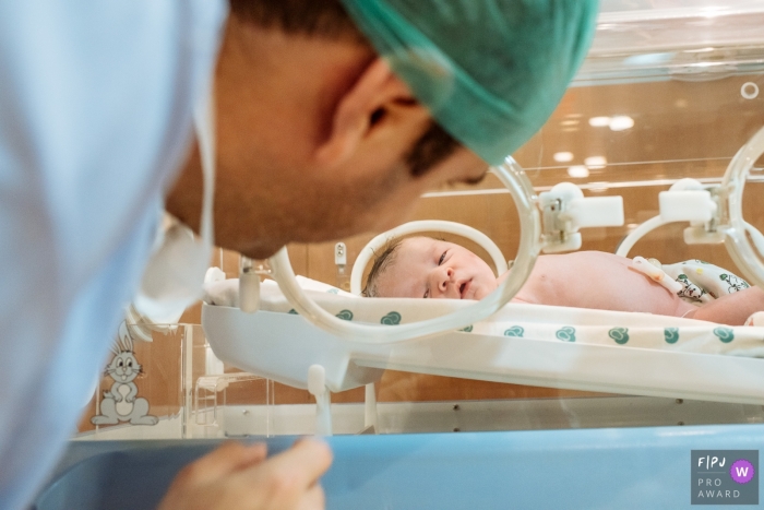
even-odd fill
[(497, 288), (497, 278), (482, 259), (453, 242), (411, 237), (379, 276), (383, 297), (482, 299)]

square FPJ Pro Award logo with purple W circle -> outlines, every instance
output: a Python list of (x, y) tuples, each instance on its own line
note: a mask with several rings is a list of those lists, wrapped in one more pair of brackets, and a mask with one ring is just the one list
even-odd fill
[(692, 505), (759, 505), (759, 450), (692, 450)]

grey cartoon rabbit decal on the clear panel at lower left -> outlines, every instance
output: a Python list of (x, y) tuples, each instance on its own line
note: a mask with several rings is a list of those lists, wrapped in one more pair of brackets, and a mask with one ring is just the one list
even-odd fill
[(119, 327), (119, 341), (111, 347), (115, 356), (111, 358), (106, 375), (114, 379), (111, 389), (104, 392), (100, 401), (100, 414), (93, 416), (93, 425), (114, 425), (120, 422), (130, 422), (132, 425), (156, 425), (159, 420), (148, 413), (148, 401), (136, 399), (138, 387), (135, 378), (141, 373), (142, 367), (133, 352), (133, 341), (128, 328), (122, 322)]

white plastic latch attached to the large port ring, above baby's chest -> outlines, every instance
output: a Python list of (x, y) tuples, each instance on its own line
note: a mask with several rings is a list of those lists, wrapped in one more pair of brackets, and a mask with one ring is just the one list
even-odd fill
[(581, 188), (572, 182), (560, 182), (540, 193), (539, 205), (546, 253), (581, 248), (578, 228), (623, 225), (622, 197), (584, 198)]

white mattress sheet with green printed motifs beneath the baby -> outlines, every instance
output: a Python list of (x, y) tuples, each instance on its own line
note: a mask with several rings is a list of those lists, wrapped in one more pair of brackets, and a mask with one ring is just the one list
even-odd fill
[[(464, 305), (453, 300), (359, 298), (302, 277), (300, 284), (317, 303), (336, 317), (372, 324), (416, 322)], [(263, 285), (262, 298), (263, 310), (297, 313), (274, 282)], [(764, 328), (732, 328), (676, 317), (584, 308), (511, 303), (489, 319), (462, 331), (552, 342), (764, 356)]]

